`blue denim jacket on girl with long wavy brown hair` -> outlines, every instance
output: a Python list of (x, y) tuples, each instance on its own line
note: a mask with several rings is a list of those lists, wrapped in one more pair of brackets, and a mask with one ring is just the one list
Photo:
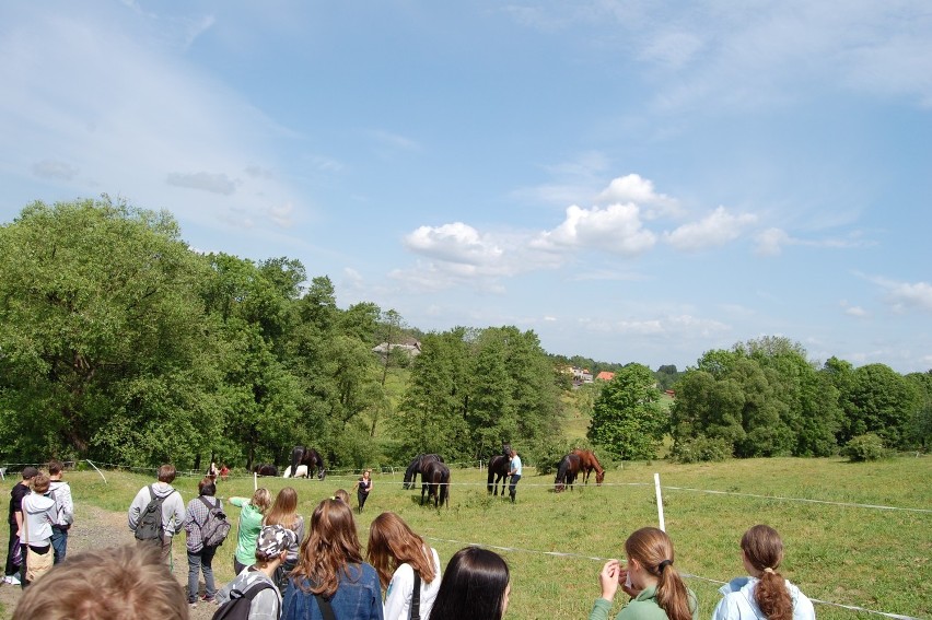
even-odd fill
[[(281, 620), (323, 620), (311, 583), (302, 580), (301, 589), (288, 580), (282, 601)], [(351, 564), (340, 574), (340, 585), (330, 598), (334, 616), (339, 620), (383, 620), (382, 584), (370, 564)]]

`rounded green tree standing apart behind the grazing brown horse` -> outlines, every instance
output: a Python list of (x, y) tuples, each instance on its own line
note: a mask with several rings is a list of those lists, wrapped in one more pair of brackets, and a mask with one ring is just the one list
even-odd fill
[(625, 366), (602, 388), (587, 436), (622, 459), (655, 458), (668, 416), (659, 407), (651, 370)]

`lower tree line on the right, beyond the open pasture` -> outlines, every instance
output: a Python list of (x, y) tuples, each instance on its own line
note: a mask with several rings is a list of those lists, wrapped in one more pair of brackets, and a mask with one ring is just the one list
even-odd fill
[(680, 461), (829, 456), (863, 449), (865, 438), (899, 451), (932, 442), (932, 371), (901, 375), (838, 358), (817, 365), (787, 338), (707, 351), (674, 388), (667, 412), (655, 374), (626, 366), (596, 398), (590, 438), (619, 458), (655, 458), (671, 436)]

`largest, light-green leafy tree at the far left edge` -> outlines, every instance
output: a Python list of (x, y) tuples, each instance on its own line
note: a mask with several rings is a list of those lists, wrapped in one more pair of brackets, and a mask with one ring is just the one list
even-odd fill
[(190, 461), (218, 428), (207, 264), (166, 212), (35, 202), (0, 227), (0, 444)]

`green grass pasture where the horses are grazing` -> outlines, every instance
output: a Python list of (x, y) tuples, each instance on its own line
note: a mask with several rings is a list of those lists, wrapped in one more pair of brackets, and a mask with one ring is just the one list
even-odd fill
[[(781, 533), (787, 547), (783, 573), (811, 598), (932, 617), (929, 457), (866, 465), (795, 458), (688, 466), (632, 463), (609, 470), (602, 488), (591, 484), (561, 494), (552, 492), (550, 476), (526, 470), (514, 505), (487, 495), (481, 471), (454, 469), (450, 507), (441, 511), (421, 507), (419, 491), (401, 490), (400, 472), (375, 475), (365, 513), (358, 519), (360, 538), (364, 545), (368, 525), (380, 512), (394, 511), (428, 538), (444, 564), (467, 543), (512, 549), (500, 551), (512, 571), (508, 618), (585, 618), (599, 594), (599, 559), (619, 557), (628, 533), (657, 523), (654, 472), (660, 472), (664, 487), (666, 529), (677, 551), (675, 566), (696, 575), (687, 584), (699, 596), (700, 618), (710, 617), (719, 586), (698, 577), (722, 582), (741, 574), (738, 540), (756, 523), (770, 524)], [(82, 503), (124, 512), (136, 491), (151, 481), (137, 473), (105, 475), (107, 484), (94, 471), (69, 472), (79, 519)], [(275, 492), (290, 482), (299, 491), (302, 514), (308, 515), (321, 499), (340, 487), (349, 490), (353, 480), (330, 475), (324, 482), (267, 478), (260, 484)], [(186, 499), (194, 496), (195, 479), (176, 482)], [(4, 488), (9, 489), (9, 482)], [(251, 478), (231, 479), (221, 484), (219, 494), (248, 495), (252, 488)], [(230, 512), (235, 520), (237, 511)], [(221, 582), (233, 576), (232, 551), (233, 545), (228, 542), (218, 553), (215, 570)], [(627, 597), (619, 595), (616, 610), (621, 598)], [(820, 619), (860, 615), (825, 605), (817, 605), (816, 613)]]

